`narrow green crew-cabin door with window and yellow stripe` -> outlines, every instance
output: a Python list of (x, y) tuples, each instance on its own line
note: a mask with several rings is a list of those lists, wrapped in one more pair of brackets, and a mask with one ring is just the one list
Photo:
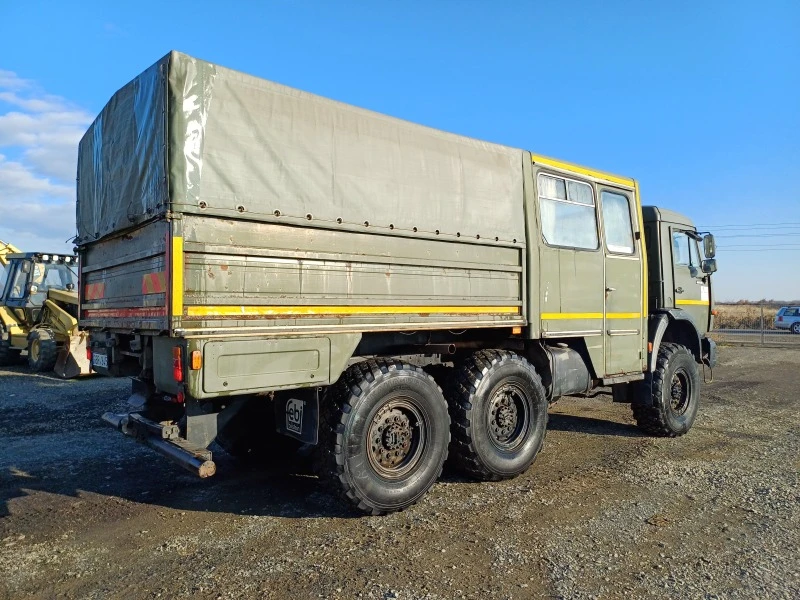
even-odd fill
[(606, 375), (642, 371), (642, 247), (634, 192), (600, 187), (605, 255)]

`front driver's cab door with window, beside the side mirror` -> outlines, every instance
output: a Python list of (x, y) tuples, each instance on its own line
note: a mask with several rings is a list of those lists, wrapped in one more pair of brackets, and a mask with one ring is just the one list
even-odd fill
[(675, 308), (689, 313), (697, 331), (708, 331), (710, 294), (706, 275), (700, 270), (700, 251), (690, 232), (670, 227), (672, 237), (672, 281), (675, 286)]

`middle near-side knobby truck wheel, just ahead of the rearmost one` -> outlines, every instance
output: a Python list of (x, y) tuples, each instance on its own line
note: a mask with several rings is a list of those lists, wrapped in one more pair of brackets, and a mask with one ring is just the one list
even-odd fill
[(547, 395), (533, 365), (514, 352), (481, 350), (457, 368), (446, 394), (456, 468), (499, 481), (530, 467), (547, 429)]

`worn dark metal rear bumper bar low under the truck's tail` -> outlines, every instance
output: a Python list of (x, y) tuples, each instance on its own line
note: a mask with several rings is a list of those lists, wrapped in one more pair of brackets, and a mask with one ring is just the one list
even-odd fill
[[(138, 417), (138, 418), (136, 418)], [(183, 467), (187, 471), (194, 473), (201, 479), (213, 476), (217, 472), (217, 465), (211, 460), (211, 452), (204, 448), (194, 448), (186, 440), (178, 438), (167, 440), (154, 436), (147, 431), (157, 425), (152, 421), (142, 423), (143, 417), (132, 418), (129, 414), (104, 413), (103, 421), (111, 425), (114, 429), (121, 431), (128, 437), (136, 439), (140, 444), (144, 444), (168, 458), (176, 465)], [(160, 426), (159, 426), (160, 427)]]

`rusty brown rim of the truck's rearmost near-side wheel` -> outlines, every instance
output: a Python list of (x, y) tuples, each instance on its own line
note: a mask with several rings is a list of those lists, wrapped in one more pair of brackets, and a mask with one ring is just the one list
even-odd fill
[(400, 397), (378, 409), (367, 435), (367, 456), (385, 479), (400, 479), (418, 464), (425, 447), (426, 422), (411, 398)]

